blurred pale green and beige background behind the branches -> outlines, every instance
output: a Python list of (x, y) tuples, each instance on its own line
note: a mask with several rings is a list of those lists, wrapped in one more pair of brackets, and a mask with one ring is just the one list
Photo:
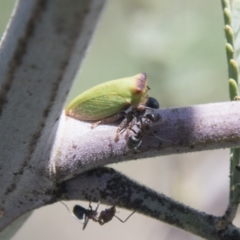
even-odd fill
[[(3, 33), (15, 1), (0, 1)], [(69, 100), (98, 83), (146, 72), (149, 94), (162, 108), (228, 101), (220, 1), (111, 0), (81, 66)], [(112, 165), (188, 206), (222, 215), (228, 204), (229, 149), (156, 157)], [(71, 208), (78, 203), (66, 202)], [(93, 205), (95, 206), (95, 205)], [(106, 206), (101, 205), (100, 209)], [(125, 219), (129, 212), (117, 209)], [(234, 221), (240, 226), (240, 217)], [(13, 240), (199, 240), (190, 233), (134, 214), (125, 224), (82, 225), (61, 203), (34, 211)]]

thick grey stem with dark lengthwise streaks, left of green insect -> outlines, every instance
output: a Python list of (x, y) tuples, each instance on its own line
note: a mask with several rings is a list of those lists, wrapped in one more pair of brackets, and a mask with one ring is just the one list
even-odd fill
[(103, 4), (17, 2), (0, 52), (0, 231), (27, 211), (53, 201), (56, 182), (46, 171), (55, 137), (52, 127)]

